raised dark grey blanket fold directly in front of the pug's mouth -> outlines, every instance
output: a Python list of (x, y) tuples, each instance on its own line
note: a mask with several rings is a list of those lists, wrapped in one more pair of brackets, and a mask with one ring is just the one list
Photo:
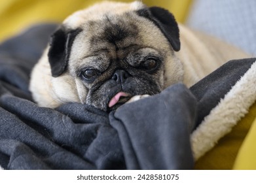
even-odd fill
[(196, 99), (183, 84), (118, 108), (110, 123), (119, 133), (128, 169), (192, 169), (189, 136), (195, 111)]

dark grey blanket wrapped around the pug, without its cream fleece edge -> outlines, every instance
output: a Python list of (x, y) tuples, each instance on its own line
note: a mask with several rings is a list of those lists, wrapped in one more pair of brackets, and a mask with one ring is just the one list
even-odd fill
[(110, 114), (78, 103), (43, 108), (29, 74), (55, 28), (37, 25), (0, 45), (4, 169), (193, 169), (191, 132), (255, 61), (230, 61), (190, 89), (174, 84)]

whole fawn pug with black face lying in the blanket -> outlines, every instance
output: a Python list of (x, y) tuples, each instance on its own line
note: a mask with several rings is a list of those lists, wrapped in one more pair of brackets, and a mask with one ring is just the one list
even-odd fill
[(164, 8), (104, 1), (64, 20), (33, 68), (29, 89), (42, 107), (84, 103), (111, 111), (177, 82), (189, 87), (225, 61), (247, 57), (177, 24)]

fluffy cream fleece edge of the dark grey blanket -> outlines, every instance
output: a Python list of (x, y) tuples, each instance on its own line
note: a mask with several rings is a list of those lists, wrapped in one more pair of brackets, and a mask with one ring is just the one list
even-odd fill
[[(211, 150), (219, 139), (227, 135), (244, 117), (256, 101), (256, 60), (246, 73), (232, 86), (219, 104), (213, 108), (191, 135), (194, 159)], [(227, 110), (229, 108), (229, 110)], [(223, 112), (225, 111), (225, 112)], [(221, 125), (220, 125), (221, 124)]]

